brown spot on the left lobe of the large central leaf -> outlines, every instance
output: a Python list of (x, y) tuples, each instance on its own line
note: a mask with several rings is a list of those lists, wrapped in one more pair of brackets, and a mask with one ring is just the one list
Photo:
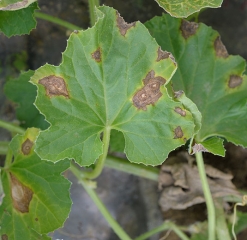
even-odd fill
[(65, 81), (61, 77), (54, 75), (44, 77), (39, 80), (39, 84), (43, 85), (46, 90), (46, 95), (51, 97), (62, 95), (69, 97)]

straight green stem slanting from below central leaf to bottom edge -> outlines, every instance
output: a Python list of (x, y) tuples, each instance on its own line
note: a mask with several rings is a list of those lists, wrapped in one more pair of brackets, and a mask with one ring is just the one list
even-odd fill
[(82, 184), (88, 195), (91, 197), (95, 205), (98, 207), (101, 214), (104, 216), (106, 221), (109, 223), (113, 231), (118, 235), (120, 239), (124, 240), (131, 240), (131, 238), (127, 235), (127, 233), (121, 228), (121, 226), (116, 222), (116, 220), (111, 216), (109, 211), (106, 209), (105, 205), (102, 203), (102, 201), (99, 199), (96, 192), (90, 187), (90, 184), (88, 184), (88, 181), (85, 180), (81, 174), (81, 171), (77, 169), (75, 166), (71, 164), (70, 170), (72, 173), (76, 176), (76, 178), (79, 180), (79, 183)]

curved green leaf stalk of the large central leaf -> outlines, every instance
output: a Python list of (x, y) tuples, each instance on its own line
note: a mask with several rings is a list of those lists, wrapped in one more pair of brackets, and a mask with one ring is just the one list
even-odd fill
[(110, 143), (110, 133), (111, 133), (111, 128), (106, 127), (103, 133), (103, 154), (99, 157), (96, 163), (96, 167), (93, 171), (83, 172), (84, 178), (94, 179), (94, 178), (97, 178), (101, 174), (104, 164), (105, 164), (105, 159), (108, 153), (108, 148), (109, 148), (109, 143)]

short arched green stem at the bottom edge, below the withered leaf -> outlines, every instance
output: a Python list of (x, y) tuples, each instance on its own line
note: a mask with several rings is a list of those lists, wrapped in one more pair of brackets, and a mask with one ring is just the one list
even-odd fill
[(176, 226), (172, 222), (164, 222), (159, 227), (152, 229), (149, 232), (142, 234), (141, 236), (135, 238), (135, 240), (145, 240), (159, 232), (164, 230), (173, 230), (182, 240), (189, 240), (189, 238), (181, 231), (181, 228)]

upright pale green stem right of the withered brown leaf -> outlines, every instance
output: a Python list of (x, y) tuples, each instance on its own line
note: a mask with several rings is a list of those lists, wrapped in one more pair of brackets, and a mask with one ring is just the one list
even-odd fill
[(208, 211), (208, 239), (215, 240), (215, 208), (213, 198), (210, 192), (210, 188), (207, 181), (207, 176), (205, 172), (205, 167), (203, 163), (202, 153), (198, 152), (196, 155), (196, 162), (198, 167), (198, 172), (202, 182), (202, 189), (204, 193), (205, 202)]

